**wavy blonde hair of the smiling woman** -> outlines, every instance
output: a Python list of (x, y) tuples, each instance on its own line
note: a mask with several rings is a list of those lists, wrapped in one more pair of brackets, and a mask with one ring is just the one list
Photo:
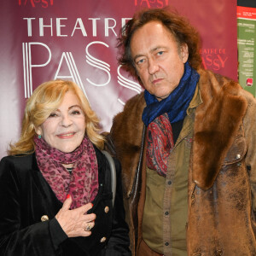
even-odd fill
[(32, 154), (34, 152), (33, 137), (37, 135), (36, 128), (42, 125), (49, 114), (60, 106), (67, 91), (73, 91), (79, 98), (85, 116), (85, 134), (97, 148), (103, 148), (104, 137), (99, 133), (101, 131), (99, 119), (90, 108), (83, 91), (72, 81), (52, 80), (40, 84), (27, 100), (20, 139), (17, 143), (9, 145), (9, 155)]

